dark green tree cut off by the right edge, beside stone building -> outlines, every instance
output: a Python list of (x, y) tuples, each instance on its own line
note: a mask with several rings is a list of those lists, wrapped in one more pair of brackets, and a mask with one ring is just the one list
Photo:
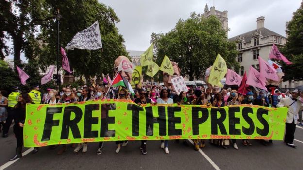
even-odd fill
[(286, 22), (288, 35), (286, 46), (281, 52), (293, 63), (283, 64), (285, 70), (284, 80), (303, 80), (301, 74), (303, 65), (303, 2), (299, 9), (293, 13), (292, 19)]

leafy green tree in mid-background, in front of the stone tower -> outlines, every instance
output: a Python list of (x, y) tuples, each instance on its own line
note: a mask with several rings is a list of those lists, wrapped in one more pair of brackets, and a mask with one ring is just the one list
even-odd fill
[(229, 68), (239, 67), (236, 62), (236, 44), (227, 40), (226, 30), (215, 16), (204, 18), (191, 13), (187, 20), (179, 20), (168, 33), (152, 33), (156, 51), (156, 62), (161, 64), (164, 55), (171, 61), (178, 62), (182, 73), (194, 76), (205, 76), (205, 71), (215, 61), (217, 54), (225, 59)]

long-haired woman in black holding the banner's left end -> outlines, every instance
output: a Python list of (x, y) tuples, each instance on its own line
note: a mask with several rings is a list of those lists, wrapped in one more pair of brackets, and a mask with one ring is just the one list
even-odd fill
[(23, 126), (25, 122), (25, 108), (27, 103), (33, 103), (28, 93), (21, 93), (18, 97), (18, 103), (13, 108), (14, 110), (14, 133), (17, 140), (16, 154), (9, 161), (13, 161), (22, 157), (22, 146), (23, 146)]

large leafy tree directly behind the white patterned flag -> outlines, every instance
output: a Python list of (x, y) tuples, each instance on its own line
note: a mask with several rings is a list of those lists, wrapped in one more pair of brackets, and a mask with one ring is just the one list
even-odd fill
[[(124, 39), (115, 26), (119, 22), (114, 10), (97, 0), (65, 0), (60, 3), (46, 0), (50, 12), (53, 14), (60, 9), (60, 46), (65, 47), (73, 36), (95, 21), (99, 21), (103, 49), (98, 50), (68, 50), (67, 56), (76, 75), (84, 75), (86, 80), (90, 76), (102, 73), (113, 76), (114, 60), (119, 55), (127, 56)], [(41, 27), (41, 34), (36, 38), (32, 49), (35, 55), (33, 60), (48, 66), (56, 62), (57, 50), (57, 23), (49, 20)], [(61, 55), (59, 65), (61, 65)]]

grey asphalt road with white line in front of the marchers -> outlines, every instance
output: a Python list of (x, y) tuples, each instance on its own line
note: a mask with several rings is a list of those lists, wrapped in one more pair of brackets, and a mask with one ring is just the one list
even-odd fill
[[(129, 142), (118, 154), (115, 153), (115, 142), (105, 142), (101, 155), (96, 155), (97, 143), (89, 143), (86, 153), (73, 153), (73, 148), (68, 147), (62, 155), (57, 155), (59, 148), (43, 147), (5, 170), (301, 170), (303, 128), (296, 129), (295, 139), (302, 142), (294, 142), (296, 149), (287, 147), (283, 141), (263, 146), (259, 141), (251, 140), (252, 146), (243, 146), (238, 140), (239, 150), (232, 146), (225, 150), (207, 143), (200, 152), (193, 149), (190, 141), (187, 141), (188, 146), (170, 141), (168, 155), (160, 149), (160, 141), (148, 141), (147, 155), (141, 155), (140, 141)], [(16, 139), (11, 128), (8, 138), (0, 137), (0, 169), (15, 154), (15, 147)]]

